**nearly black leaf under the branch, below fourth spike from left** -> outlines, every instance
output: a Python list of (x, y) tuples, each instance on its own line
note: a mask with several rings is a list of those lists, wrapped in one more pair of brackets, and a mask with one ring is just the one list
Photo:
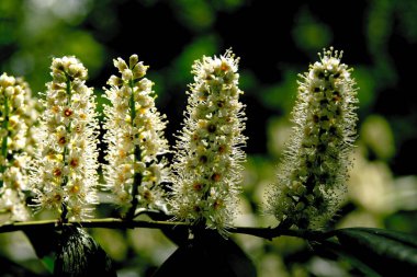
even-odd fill
[(206, 231), (181, 245), (154, 277), (165, 276), (255, 277), (257, 273), (253, 263), (232, 239)]

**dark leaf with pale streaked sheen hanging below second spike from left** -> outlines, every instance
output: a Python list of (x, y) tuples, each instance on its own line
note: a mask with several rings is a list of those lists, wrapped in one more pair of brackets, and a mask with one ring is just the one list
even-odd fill
[(112, 262), (101, 246), (81, 228), (65, 227), (54, 266), (59, 277), (113, 277)]

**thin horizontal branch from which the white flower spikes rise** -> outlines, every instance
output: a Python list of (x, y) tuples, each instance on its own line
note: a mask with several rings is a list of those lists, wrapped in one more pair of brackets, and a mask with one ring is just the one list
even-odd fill
[[(109, 229), (134, 229), (134, 228), (149, 228), (149, 229), (188, 229), (194, 228), (194, 226), (178, 222), (178, 221), (153, 221), (153, 220), (122, 220), (116, 218), (104, 218), (104, 219), (91, 219), (83, 221), (69, 221), (59, 222), (57, 220), (42, 220), (42, 221), (26, 221), (26, 222), (14, 222), (10, 224), (0, 226), (0, 233), (14, 232), (14, 231), (31, 231), (31, 230), (42, 230), (42, 229), (55, 229), (61, 226), (79, 226), (82, 228), (109, 228)], [(277, 228), (257, 228), (257, 227), (235, 227), (227, 230), (230, 233), (241, 233), (253, 235), (267, 240), (272, 240), (281, 235), (296, 236), (306, 239), (309, 241), (319, 241), (331, 236), (331, 233), (326, 233), (322, 231), (312, 230), (292, 230)]]

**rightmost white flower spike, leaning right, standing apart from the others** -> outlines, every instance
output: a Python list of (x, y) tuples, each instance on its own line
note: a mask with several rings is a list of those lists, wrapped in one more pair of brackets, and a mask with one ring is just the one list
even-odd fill
[(269, 211), (289, 226), (318, 227), (334, 216), (345, 191), (358, 100), (341, 56), (325, 49), (300, 76), (294, 132), (268, 195)]

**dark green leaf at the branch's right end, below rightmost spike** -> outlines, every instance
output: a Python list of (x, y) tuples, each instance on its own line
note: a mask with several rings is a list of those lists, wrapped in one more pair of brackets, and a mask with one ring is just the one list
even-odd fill
[(372, 228), (335, 231), (341, 249), (376, 273), (397, 275), (417, 272), (417, 238)]

